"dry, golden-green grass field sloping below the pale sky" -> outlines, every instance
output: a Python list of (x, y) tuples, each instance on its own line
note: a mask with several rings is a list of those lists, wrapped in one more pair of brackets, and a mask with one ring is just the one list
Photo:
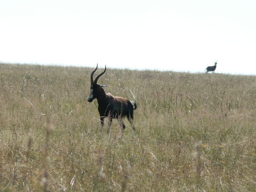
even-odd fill
[(0, 191), (256, 190), (255, 76), (107, 69), (138, 102), (108, 135), (91, 71), (0, 64)]

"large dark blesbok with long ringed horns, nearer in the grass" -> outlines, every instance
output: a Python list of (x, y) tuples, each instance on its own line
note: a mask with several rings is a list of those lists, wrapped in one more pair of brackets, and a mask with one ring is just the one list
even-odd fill
[(89, 97), (87, 98), (87, 101), (92, 102), (93, 99), (97, 99), (98, 101), (98, 104), (99, 104), (98, 110), (100, 113), (100, 121), (101, 121), (101, 132), (103, 130), (104, 119), (106, 117), (109, 117), (108, 129), (107, 129), (108, 133), (110, 131), (113, 118), (118, 119), (118, 122), (124, 131), (125, 129), (125, 125), (123, 122), (124, 117), (127, 117), (133, 130), (136, 131), (135, 126), (133, 124), (133, 110), (137, 108), (136, 101), (134, 102), (134, 107), (133, 107), (131, 101), (129, 101), (128, 99), (122, 98), (122, 97), (116, 97), (111, 95), (110, 93), (105, 93), (105, 91), (103, 90), (103, 87), (105, 87), (106, 85), (99, 85), (97, 84), (97, 81), (100, 78), (100, 76), (106, 72), (106, 69), (107, 69), (106, 65), (105, 65), (105, 70), (101, 74), (99, 74), (93, 81), (93, 74), (97, 69), (98, 69), (98, 63), (97, 63), (97, 67), (91, 73), (91, 88), (90, 88), (90, 94), (89, 94)]

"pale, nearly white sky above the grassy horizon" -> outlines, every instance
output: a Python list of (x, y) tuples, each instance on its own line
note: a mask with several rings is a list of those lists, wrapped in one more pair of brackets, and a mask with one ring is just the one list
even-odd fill
[(256, 74), (255, 0), (1, 0), (0, 62)]

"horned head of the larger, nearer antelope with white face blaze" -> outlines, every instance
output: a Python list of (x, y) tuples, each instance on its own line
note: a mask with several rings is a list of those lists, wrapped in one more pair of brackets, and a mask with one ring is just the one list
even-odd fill
[(106, 65), (105, 65), (105, 70), (99, 74), (95, 80), (93, 81), (93, 74), (95, 73), (95, 71), (98, 69), (98, 63), (97, 63), (97, 67), (92, 71), (92, 74), (91, 74), (91, 87), (90, 87), (90, 94), (87, 98), (87, 101), (89, 102), (92, 102), (93, 99), (98, 99), (98, 98), (101, 98), (101, 97), (104, 97), (105, 96), (105, 92), (104, 90), (102, 89), (103, 87), (107, 86), (107, 85), (99, 85), (97, 83), (98, 79), (100, 78), (101, 75), (103, 75), (105, 72), (106, 72)]

